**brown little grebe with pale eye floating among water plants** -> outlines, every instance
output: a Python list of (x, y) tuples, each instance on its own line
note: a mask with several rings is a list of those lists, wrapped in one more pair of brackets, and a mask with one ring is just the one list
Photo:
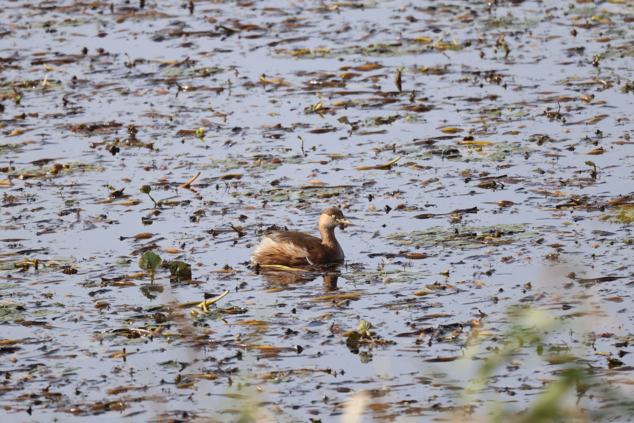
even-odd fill
[(353, 225), (339, 209), (330, 207), (321, 212), (319, 218), (321, 239), (300, 231), (267, 230), (251, 255), (251, 262), (286, 265), (340, 263), (344, 259), (344, 251), (335, 239), (335, 228), (340, 223)]

